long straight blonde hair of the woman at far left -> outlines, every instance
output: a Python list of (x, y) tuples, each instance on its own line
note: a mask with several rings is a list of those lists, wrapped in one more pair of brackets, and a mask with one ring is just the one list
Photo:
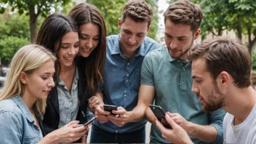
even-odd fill
[[(17, 95), (22, 96), (24, 92), (24, 84), (20, 81), (20, 72), (32, 74), (41, 65), (44, 65), (48, 60), (55, 62), (56, 57), (44, 47), (36, 44), (29, 44), (25, 47), (21, 47), (12, 58), (12, 62), (9, 65), (9, 72), (7, 73), (7, 79), (4, 82), (4, 87), (0, 93), (0, 101), (6, 100), (10, 97)], [(43, 116), (46, 107), (46, 100), (38, 99), (33, 104), (33, 108), (36, 108), (37, 113)]]

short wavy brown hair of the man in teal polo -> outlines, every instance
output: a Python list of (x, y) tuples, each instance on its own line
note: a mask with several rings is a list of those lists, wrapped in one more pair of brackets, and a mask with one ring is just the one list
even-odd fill
[(203, 12), (198, 4), (193, 4), (188, 0), (180, 0), (172, 3), (164, 12), (164, 23), (169, 19), (172, 23), (191, 25), (194, 33), (199, 29)]

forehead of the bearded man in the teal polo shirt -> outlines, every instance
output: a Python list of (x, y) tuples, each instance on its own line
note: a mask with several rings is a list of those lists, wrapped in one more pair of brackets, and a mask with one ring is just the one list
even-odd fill
[(173, 37), (192, 36), (190, 25), (175, 24), (169, 19), (165, 22), (165, 33)]

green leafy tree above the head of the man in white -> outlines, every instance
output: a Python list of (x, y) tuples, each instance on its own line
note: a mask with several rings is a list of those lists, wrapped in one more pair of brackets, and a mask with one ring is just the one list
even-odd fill
[[(169, 0), (173, 2), (175, 0)], [(221, 36), (223, 31), (235, 31), (241, 39), (247, 37), (245, 43), (252, 55), (252, 47), (256, 42), (256, 3), (255, 0), (193, 0), (199, 4), (204, 19), (201, 23), (201, 36), (204, 39), (209, 33)]]

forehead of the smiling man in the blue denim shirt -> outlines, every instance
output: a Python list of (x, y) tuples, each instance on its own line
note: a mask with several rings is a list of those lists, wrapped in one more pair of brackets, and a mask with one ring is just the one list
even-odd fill
[(121, 23), (121, 29), (126, 29), (132, 33), (147, 33), (148, 22), (135, 22), (131, 18), (127, 17), (123, 23)]

